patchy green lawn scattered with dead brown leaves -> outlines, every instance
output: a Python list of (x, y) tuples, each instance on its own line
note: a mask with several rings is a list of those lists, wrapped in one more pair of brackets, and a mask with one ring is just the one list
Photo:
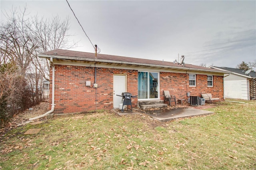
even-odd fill
[(110, 111), (54, 117), (1, 136), (0, 169), (253, 170), (256, 101), (243, 102), (166, 123)]

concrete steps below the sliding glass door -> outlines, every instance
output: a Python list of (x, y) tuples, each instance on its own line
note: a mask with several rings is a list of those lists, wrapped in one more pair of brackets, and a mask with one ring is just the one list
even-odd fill
[(140, 109), (155, 109), (167, 107), (167, 104), (164, 104), (163, 100), (151, 100), (151, 101), (138, 101), (138, 107)]

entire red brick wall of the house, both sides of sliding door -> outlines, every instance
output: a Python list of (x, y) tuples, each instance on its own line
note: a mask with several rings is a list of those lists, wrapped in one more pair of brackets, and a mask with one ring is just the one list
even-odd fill
[[(138, 95), (138, 71), (127, 69), (97, 68), (94, 83), (94, 67), (55, 65), (55, 108), (54, 113), (76, 113), (113, 108), (113, 75), (127, 75), (127, 92)], [(187, 99), (186, 93), (201, 97), (201, 93), (212, 93), (213, 97), (223, 97), (223, 76), (213, 76), (214, 87), (207, 87), (207, 75), (196, 75), (196, 87), (189, 87), (188, 74), (160, 72), (160, 99), (163, 91), (169, 90), (176, 99)], [(52, 72), (50, 73), (52, 80)], [(91, 88), (85, 82), (91, 81)], [(52, 82), (50, 82), (50, 91)], [(50, 103), (52, 93), (50, 93)], [(96, 103), (97, 100), (97, 103)], [(132, 98), (132, 107), (137, 106), (137, 98)]]

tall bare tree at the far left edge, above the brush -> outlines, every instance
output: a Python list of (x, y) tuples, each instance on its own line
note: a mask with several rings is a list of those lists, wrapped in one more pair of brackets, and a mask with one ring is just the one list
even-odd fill
[(14, 10), (11, 16), (6, 15), (7, 22), (1, 23), (0, 29), (1, 64), (2, 61), (15, 61), (23, 76), (31, 61), (31, 53), (35, 51), (28, 29), (31, 24), (24, 16), (25, 10), (22, 13)]

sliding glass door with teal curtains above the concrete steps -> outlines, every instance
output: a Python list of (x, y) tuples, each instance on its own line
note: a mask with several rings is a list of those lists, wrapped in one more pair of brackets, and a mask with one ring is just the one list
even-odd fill
[(138, 72), (138, 99), (158, 99), (158, 73)]

